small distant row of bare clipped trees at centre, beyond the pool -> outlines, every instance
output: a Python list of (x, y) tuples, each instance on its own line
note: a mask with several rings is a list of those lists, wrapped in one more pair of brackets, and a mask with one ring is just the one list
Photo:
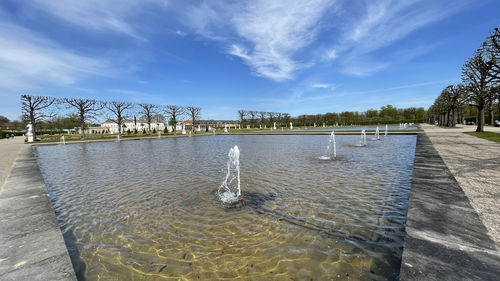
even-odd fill
[(254, 111), (254, 110), (238, 110), (238, 120), (241, 126), (250, 125), (255, 128), (256, 125), (266, 125), (273, 126), (274, 122), (278, 124), (279, 127), (288, 126), (291, 117), (288, 113), (281, 112), (264, 112), (264, 111)]

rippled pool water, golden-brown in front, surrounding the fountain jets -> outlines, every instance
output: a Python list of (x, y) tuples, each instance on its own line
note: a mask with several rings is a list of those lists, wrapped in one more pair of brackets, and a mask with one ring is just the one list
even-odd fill
[[(80, 280), (397, 279), (415, 136), (204, 136), (37, 147)], [(370, 139), (370, 136), (368, 136)], [(245, 205), (216, 190), (241, 149)]]

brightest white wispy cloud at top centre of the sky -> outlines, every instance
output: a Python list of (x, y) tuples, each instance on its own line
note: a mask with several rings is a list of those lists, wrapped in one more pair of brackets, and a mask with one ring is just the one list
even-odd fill
[(311, 44), (330, 0), (247, 1), (221, 5), (214, 1), (190, 9), (191, 25), (199, 35), (223, 41), (227, 52), (241, 58), (252, 71), (275, 81), (293, 78), (311, 65), (295, 58)]

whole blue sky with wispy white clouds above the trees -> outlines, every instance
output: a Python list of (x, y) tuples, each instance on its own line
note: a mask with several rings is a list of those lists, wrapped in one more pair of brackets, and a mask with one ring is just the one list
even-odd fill
[(2, 0), (0, 115), (20, 95), (292, 116), (429, 107), (497, 0)]

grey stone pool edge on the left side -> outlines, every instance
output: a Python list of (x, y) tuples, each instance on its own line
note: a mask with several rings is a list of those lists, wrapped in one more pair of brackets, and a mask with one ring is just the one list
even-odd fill
[(31, 145), (0, 191), (0, 223), (1, 280), (77, 280)]

